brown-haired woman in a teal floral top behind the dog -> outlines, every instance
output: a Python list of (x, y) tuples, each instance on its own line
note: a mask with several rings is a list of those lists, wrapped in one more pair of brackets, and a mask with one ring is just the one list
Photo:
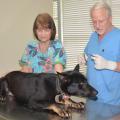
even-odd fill
[(39, 14), (33, 25), (35, 40), (29, 42), (20, 60), (22, 72), (62, 72), (66, 54), (61, 41), (55, 39), (56, 27), (53, 18)]

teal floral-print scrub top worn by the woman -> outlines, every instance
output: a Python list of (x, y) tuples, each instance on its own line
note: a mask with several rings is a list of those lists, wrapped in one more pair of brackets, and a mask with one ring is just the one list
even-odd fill
[(30, 66), (33, 73), (54, 73), (55, 64), (65, 67), (66, 53), (60, 40), (51, 41), (45, 53), (40, 52), (39, 41), (32, 40), (28, 42), (19, 63)]

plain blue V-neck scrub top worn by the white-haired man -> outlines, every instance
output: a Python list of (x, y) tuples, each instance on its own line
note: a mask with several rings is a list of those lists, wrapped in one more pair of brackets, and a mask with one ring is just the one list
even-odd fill
[(93, 54), (99, 54), (107, 60), (120, 62), (120, 29), (113, 28), (101, 41), (94, 32), (85, 48), (85, 54), (88, 56), (88, 82), (98, 90), (98, 101), (120, 105), (120, 72), (97, 70), (91, 59)]

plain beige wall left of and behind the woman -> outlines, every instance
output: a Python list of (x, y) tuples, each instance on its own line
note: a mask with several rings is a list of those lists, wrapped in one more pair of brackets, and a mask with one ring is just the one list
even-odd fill
[(52, 0), (0, 0), (0, 76), (20, 69), (18, 60), (42, 12), (52, 15)]

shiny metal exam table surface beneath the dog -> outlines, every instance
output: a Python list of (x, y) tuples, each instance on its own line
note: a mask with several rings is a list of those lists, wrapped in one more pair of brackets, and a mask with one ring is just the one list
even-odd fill
[[(33, 112), (22, 106), (6, 108), (0, 103), (0, 120), (65, 120), (56, 114), (40, 111)], [(86, 101), (85, 111), (72, 111), (70, 120), (120, 120), (120, 106), (113, 106), (93, 100)]]

